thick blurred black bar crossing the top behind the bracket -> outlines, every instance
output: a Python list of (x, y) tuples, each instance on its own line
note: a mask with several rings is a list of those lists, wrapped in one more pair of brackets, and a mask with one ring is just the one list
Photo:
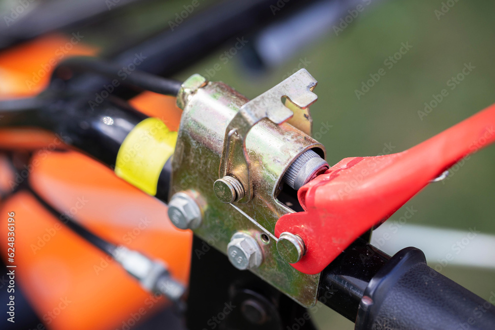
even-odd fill
[(107, 57), (125, 65), (133, 60), (136, 53), (143, 53), (148, 58), (140, 67), (141, 70), (169, 76), (203, 58), (229, 39), (245, 37), (265, 24), (289, 14), (292, 8), (310, 2), (221, 1), (191, 15), (173, 30), (167, 29), (135, 47), (108, 54)]

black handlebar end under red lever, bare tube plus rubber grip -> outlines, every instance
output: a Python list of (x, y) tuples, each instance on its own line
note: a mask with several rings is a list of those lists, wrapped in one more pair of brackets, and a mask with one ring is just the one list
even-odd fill
[(322, 272), (318, 297), (356, 330), (495, 329), (495, 296), (447, 279), (414, 247), (391, 258), (358, 238)]

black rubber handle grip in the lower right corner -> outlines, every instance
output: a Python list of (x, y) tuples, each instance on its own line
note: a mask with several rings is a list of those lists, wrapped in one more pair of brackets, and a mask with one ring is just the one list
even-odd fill
[(494, 330), (495, 306), (428, 267), (424, 253), (408, 247), (368, 284), (355, 329)]

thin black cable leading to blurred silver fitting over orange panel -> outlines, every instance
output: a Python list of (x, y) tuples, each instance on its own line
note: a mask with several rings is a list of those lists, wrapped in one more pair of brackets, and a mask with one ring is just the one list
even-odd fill
[(25, 189), (27, 189), (31, 194), (38, 200), (40, 204), (43, 205), (58, 221), (62, 222), (65, 226), (71, 229), (74, 233), (84, 238), (89, 243), (93, 244), (95, 247), (99, 248), (104, 253), (110, 255), (111, 257), (115, 256), (115, 251), (117, 249), (117, 245), (112, 244), (103, 238), (93, 234), (84, 226), (81, 226), (77, 221), (75, 221), (72, 217), (69, 217), (66, 214), (61, 214), (58, 212), (53, 206), (51, 206), (43, 197), (41, 197), (29, 184), (26, 185)]

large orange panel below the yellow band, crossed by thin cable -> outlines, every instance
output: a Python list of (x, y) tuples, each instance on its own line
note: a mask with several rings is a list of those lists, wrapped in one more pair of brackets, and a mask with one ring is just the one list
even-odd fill
[[(76, 152), (42, 158), (33, 159), (38, 166), (32, 168), (30, 180), (55, 208), (112, 242), (164, 260), (173, 276), (187, 283), (192, 236), (171, 225), (164, 204)], [(1, 237), (7, 235), (7, 212), (12, 211), (17, 283), (49, 329), (109, 329), (140, 310), (146, 312), (143, 317), (150, 315), (159, 306), (157, 301), (164, 303), (61, 225), (28, 193), (14, 196), (1, 208)], [(1, 241), (6, 251), (7, 242)], [(59, 299), (66, 297), (70, 305), (51, 317), (49, 312), (58, 312)]]

